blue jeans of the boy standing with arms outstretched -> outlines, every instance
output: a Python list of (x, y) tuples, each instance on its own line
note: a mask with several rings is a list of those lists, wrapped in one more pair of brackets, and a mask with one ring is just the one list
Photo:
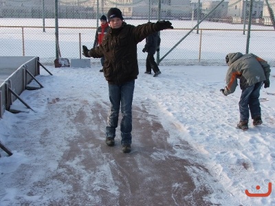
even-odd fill
[(109, 99), (111, 102), (106, 126), (106, 137), (115, 138), (115, 128), (118, 127), (118, 115), (121, 113), (120, 122), (121, 144), (132, 143), (132, 102), (135, 80), (123, 84), (109, 84)]

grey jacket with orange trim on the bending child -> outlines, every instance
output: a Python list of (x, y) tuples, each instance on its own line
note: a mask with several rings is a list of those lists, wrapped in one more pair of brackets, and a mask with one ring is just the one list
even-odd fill
[(228, 54), (228, 58), (225, 95), (234, 93), (238, 78), (242, 90), (270, 78), (270, 65), (254, 54), (236, 52)]

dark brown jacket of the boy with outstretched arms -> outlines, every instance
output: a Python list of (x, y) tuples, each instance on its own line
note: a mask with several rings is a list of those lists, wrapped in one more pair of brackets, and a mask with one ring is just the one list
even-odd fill
[(123, 22), (120, 28), (111, 28), (104, 35), (101, 45), (91, 49), (89, 54), (93, 58), (105, 57), (104, 77), (110, 84), (129, 82), (135, 80), (139, 73), (137, 43), (158, 31), (155, 23), (134, 26)]

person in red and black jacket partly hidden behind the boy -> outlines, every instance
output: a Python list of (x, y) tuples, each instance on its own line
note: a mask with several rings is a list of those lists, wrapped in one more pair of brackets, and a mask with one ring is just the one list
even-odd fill
[[(109, 23), (107, 22), (107, 17), (105, 15), (102, 15), (100, 17), (100, 22), (101, 22), (101, 24), (98, 27), (98, 29), (96, 30), (94, 48), (96, 48), (98, 45), (100, 45), (102, 43), (103, 36), (105, 34), (107, 34), (107, 32), (110, 29)], [(104, 59), (105, 59), (104, 56), (102, 58), (100, 58), (100, 62), (101, 62), (102, 67), (103, 67)], [(103, 68), (100, 69), (100, 72), (103, 72)]]

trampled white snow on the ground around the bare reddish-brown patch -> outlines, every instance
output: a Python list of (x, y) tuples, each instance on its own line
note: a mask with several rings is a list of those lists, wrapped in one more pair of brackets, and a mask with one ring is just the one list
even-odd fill
[[(69, 113), (74, 115), (77, 102), (89, 102), (90, 105), (99, 105), (108, 111), (107, 82), (102, 73), (98, 72), (100, 67), (47, 68), (54, 76), (49, 76), (44, 70), (38, 76), (45, 88), (24, 91), (21, 95), (35, 112), (16, 101), (14, 108), (21, 108), (26, 113), (12, 114), (6, 111), (3, 119), (0, 119), (0, 139), (14, 153), (7, 157), (5, 152), (0, 152), (0, 183), (3, 186), (0, 189), (1, 205), (18, 205), (24, 201), (30, 205), (48, 205), (61, 198), (62, 194), (54, 194), (54, 188), (58, 191), (58, 188), (66, 190), (69, 186), (62, 182), (54, 183), (54, 188), (44, 188), (36, 196), (30, 196), (28, 188), (56, 170), (58, 159), (63, 155), (61, 151), (69, 146), (69, 140), (65, 137), (76, 135), (75, 128), (81, 127), (80, 124), (64, 125), (62, 122), (67, 121)], [(162, 66), (160, 70), (162, 74), (153, 78), (145, 74), (144, 67), (140, 66), (133, 106), (146, 108), (148, 116), (144, 118), (147, 120), (151, 119), (151, 115), (157, 116), (169, 134), (168, 144), (177, 146), (180, 141), (187, 141), (195, 149), (198, 155), (189, 156), (188, 159), (204, 165), (222, 185), (221, 192), (213, 182), (207, 183), (214, 192), (208, 196), (209, 201), (221, 205), (275, 205), (273, 191), (267, 197), (255, 198), (245, 194), (245, 190), (256, 194), (267, 193), (268, 183), (274, 184), (274, 67), (270, 78), (271, 87), (261, 90), (263, 125), (252, 126), (250, 122), (250, 129), (245, 132), (235, 128), (239, 122), (238, 101), (241, 90), (236, 89), (235, 93), (228, 96), (219, 91), (225, 86), (227, 67), (179, 65)], [(69, 106), (71, 111), (51, 112), (61, 104), (62, 108)], [(45, 122), (45, 119), (52, 121)], [(38, 125), (43, 125), (43, 128), (37, 128)], [(104, 131), (104, 124), (98, 126)], [(94, 127), (91, 125), (91, 130)], [(47, 142), (37, 137), (45, 128), (47, 133), (51, 133), (51, 130), (57, 133), (52, 135), (52, 139), (44, 140)], [(133, 139), (139, 141), (139, 137)], [(133, 148), (135, 146), (137, 144), (133, 144)], [(176, 153), (178, 158), (186, 158), (184, 150), (179, 148)], [(70, 164), (76, 171), (81, 170), (77, 162)], [(28, 170), (33, 167), (36, 169)], [(98, 181), (102, 181), (98, 178)], [(196, 184), (199, 187), (201, 183)], [(261, 190), (256, 190), (256, 185), (260, 185)], [(118, 192), (116, 187), (108, 187), (114, 194)]]

